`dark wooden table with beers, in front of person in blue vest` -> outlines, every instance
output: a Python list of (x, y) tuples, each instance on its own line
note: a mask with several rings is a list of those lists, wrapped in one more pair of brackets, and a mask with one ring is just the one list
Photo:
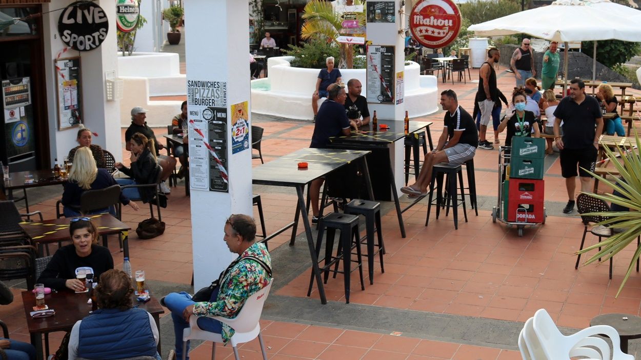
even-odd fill
[[(42, 354), (42, 334), (54, 331), (71, 331), (78, 320), (82, 320), (85, 316), (89, 315), (91, 311), (91, 304), (87, 304), (88, 293), (74, 293), (71, 290), (63, 290), (58, 293), (51, 293), (44, 295), (44, 300), (49, 309), (54, 309), (56, 315), (48, 318), (32, 318), (29, 313), (33, 311), (35, 306), (35, 294), (31, 291), (22, 291), (22, 304), (24, 306), (24, 315), (27, 319), (27, 328), (29, 336), (31, 336), (31, 345), (36, 348), (36, 356), (38, 360), (44, 359)], [(162, 306), (158, 300), (151, 297), (147, 302), (138, 302), (135, 295), (133, 297), (133, 306), (140, 307), (150, 313), (156, 321), (156, 327), (160, 333), (160, 314), (164, 313)], [(160, 351), (160, 338), (158, 338), (158, 354)]]

